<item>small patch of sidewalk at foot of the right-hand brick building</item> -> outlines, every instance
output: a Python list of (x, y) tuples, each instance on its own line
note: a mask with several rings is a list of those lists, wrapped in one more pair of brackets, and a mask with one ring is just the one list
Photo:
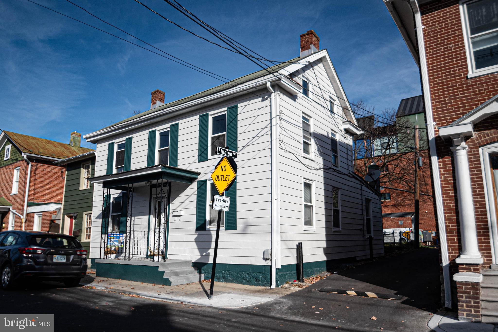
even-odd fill
[(493, 324), (460, 322), (456, 313), (444, 311), (434, 314), (427, 326), (435, 332), (498, 332)]

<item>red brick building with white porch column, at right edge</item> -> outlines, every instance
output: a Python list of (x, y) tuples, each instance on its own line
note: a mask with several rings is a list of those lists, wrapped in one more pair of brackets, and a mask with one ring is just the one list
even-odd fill
[(420, 68), (445, 305), (498, 323), (498, 1), (384, 3)]

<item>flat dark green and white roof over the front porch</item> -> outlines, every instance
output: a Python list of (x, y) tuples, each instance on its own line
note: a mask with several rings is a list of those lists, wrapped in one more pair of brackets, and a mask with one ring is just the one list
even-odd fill
[(131, 184), (161, 179), (191, 184), (197, 180), (199, 174), (201, 173), (184, 168), (155, 165), (122, 173), (96, 176), (90, 178), (90, 181), (92, 183), (102, 184), (103, 188), (119, 188)]

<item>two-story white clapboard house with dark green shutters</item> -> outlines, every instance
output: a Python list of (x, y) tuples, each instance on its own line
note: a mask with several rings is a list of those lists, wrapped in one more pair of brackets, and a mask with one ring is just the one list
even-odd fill
[[(278, 286), (338, 259), (383, 255), (379, 196), (353, 173), (361, 133), (312, 30), (300, 56), (84, 136), (97, 144), (90, 258), (98, 276), (211, 278), (216, 147), (238, 152), (216, 280)], [(369, 237), (373, 236), (372, 243)]]

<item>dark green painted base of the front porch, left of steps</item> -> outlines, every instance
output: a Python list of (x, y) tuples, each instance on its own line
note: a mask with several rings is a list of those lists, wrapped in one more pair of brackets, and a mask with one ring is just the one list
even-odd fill
[(164, 271), (159, 271), (157, 266), (96, 263), (96, 268), (97, 277), (171, 286), (169, 279), (164, 278)]

